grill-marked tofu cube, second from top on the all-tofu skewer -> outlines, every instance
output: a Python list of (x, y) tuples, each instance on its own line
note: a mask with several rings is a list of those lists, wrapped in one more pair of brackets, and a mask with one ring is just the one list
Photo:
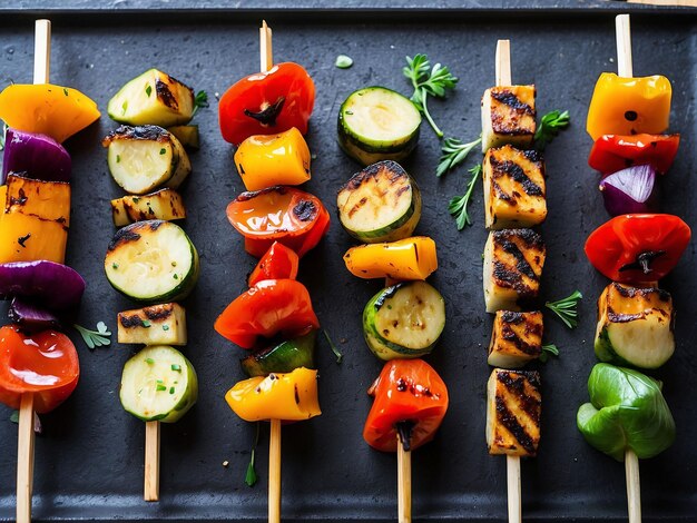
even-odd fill
[(547, 218), (544, 161), (536, 150), (505, 145), (484, 156), (484, 214), (488, 229), (532, 227)]

